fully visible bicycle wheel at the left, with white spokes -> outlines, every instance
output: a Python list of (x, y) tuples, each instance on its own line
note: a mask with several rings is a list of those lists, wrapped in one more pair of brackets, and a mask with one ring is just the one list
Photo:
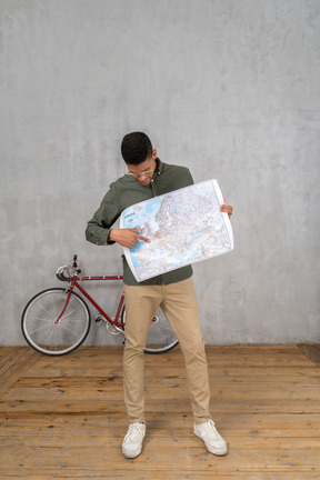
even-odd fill
[(62, 356), (77, 349), (90, 330), (90, 312), (79, 294), (72, 292), (68, 307), (60, 318), (68, 290), (52, 288), (33, 297), (26, 306), (21, 328), (27, 342), (34, 350)]

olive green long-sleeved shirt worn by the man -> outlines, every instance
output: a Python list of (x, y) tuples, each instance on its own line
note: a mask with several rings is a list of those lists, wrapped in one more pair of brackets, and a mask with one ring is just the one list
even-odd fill
[[(97, 246), (114, 243), (108, 241), (108, 237), (112, 224), (126, 208), (193, 183), (191, 173), (186, 167), (162, 163), (159, 159), (157, 159), (157, 163), (158, 168), (148, 186), (141, 186), (134, 178), (127, 174), (110, 184), (100, 208), (88, 222), (86, 230), (88, 241)], [(152, 241), (152, 239), (150, 240)], [(134, 279), (124, 256), (122, 259), (123, 282), (129, 286), (169, 284), (192, 276), (192, 268), (188, 266), (139, 283)]]

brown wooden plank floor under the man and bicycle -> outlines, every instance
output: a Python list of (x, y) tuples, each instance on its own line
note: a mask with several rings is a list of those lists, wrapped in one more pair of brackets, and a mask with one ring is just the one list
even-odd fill
[(229, 454), (192, 433), (180, 349), (146, 357), (147, 436), (134, 460), (127, 430), (122, 349), (61, 358), (0, 349), (1, 479), (320, 479), (317, 347), (207, 347), (212, 417)]

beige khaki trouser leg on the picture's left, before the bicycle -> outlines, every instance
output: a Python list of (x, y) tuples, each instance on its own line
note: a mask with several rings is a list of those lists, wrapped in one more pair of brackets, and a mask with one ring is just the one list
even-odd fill
[(123, 352), (124, 403), (130, 423), (144, 421), (143, 348), (151, 320), (161, 302), (161, 287), (124, 284), (126, 347)]

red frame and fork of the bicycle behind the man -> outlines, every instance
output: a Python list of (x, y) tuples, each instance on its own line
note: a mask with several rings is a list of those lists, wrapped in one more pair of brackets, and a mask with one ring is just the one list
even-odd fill
[(61, 319), (61, 317), (63, 316), (64, 311), (67, 310), (67, 307), (69, 304), (69, 300), (71, 297), (71, 293), (74, 289), (74, 287), (77, 287), (81, 293), (87, 298), (87, 300), (90, 301), (90, 303), (93, 304), (93, 307), (99, 311), (99, 313), (101, 313), (102, 317), (104, 317), (104, 319), (111, 324), (114, 326), (117, 323), (117, 327), (124, 327), (124, 323), (119, 323), (119, 317), (120, 317), (120, 312), (124, 302), (124, 294), (122, 293), (120, 297), (120, 301), (119, 301), (119, 306), (117, 309), (117, 313), (116, 313), (116, 318), (114, 320), (112, 320), (106, 312), (103, 309), (101, 309), (101, 307), (92, 299), (92, 297), (79, 284), (79, 281), (92, 281), (92, 280), (123, 280), (123, 276), (107, 276), (107, 277), (80, 277), (78, 278), (77, 273), (73, 276), (70, 286), (67, 288), (67, 290), (69, 290), (68, 292), (68, 297), (67, 297), (67, 301), (64, 304), (64, 308), (61, 312), (61, 314), (58, 317), (58, 319), (56, 320), (56, 323), (59, 322), (59, 320)]

